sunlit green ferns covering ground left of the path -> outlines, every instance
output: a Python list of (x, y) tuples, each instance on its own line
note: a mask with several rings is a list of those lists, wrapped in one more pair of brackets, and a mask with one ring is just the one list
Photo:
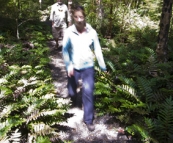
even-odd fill
[(42, 27), (36, 29), (37, 32), (30, 29), (30, 41), (8, 46), (4, 43), (0, 51), (2, 142), (56, 141), (58, 132), (53, 126), (65, 120), (68, 105), (56, 97), (48, 66), (47, 37), (41, 32)]

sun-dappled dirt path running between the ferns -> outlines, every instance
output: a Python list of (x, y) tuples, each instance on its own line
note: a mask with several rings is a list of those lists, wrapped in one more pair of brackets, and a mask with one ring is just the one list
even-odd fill
[[(61, 43), (60, 43), (61, 44)], [(59, 93), (58, 96), (67, 98), (67, 77), (65, 66), (62, 59), (61, 49), (54, 48), (54, 41), (50, 40), (48, 46), (50, 48), (50, 67), (54, 80), (55, 88)], [(97, 117), (94, 120), (95, 131), (89, 132), (83, 123), (83, 110), (79, 108), (71, 108), (67, 111), (69, 115), (67, 122), (60, 124), (62, 131), (60, 139), (71, 143), (126, 143), (128, 141), (125, 135), (118, 136), (118, 124), (112, 122), (112, 118), (105, 115)], [(66, 143), (65, 142), (65, 143)]]

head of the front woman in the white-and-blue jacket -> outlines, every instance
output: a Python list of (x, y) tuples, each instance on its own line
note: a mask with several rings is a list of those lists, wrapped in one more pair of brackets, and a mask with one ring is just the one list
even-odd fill
[(75, 6), (72, 10), (73, 23), (76, 27), (85, 26), (85, 10), (82, 6)]

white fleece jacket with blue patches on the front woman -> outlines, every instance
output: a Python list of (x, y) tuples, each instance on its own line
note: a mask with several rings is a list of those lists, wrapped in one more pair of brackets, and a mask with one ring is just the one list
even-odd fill
[(65, 31), (62, 52), (66, 68), (70, 65), (77, 70), (93, 67), (96, 56), (101, 70), (105, 71), (106, 65), (97, 33), (89, 24), (85, 28), (85, 32), (80, 34), (73, 24)]

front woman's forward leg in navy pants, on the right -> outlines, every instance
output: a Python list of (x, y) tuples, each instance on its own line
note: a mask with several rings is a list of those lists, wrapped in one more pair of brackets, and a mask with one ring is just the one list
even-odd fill
[(84, 107), (84, 122), (92, 124), (94, 119), (94, 68), (82, 72), (82, 102)]

